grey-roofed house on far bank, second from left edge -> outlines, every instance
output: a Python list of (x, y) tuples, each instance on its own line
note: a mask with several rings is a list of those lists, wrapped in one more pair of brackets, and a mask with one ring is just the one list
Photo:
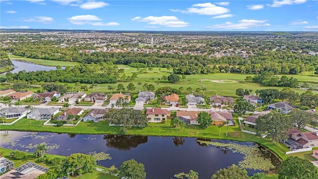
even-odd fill
[(34, 120), (49, 120), (52, 119), (52, 117), (58, 112), (60, 112), (59, 108), (36, 108), (28, 113), (26, 118)]

